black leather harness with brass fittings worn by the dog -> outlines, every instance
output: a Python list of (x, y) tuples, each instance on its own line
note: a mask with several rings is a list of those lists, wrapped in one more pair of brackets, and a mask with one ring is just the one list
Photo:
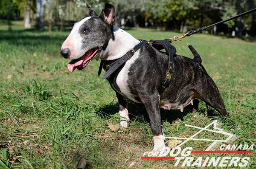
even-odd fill
[[(115, 90), (117, 93), (122, 95), (127, 101), (131, 102), (126, 96), (124, 96), (121, 93), (121, 90), (119, 89), (118, 85), (116, 84), (116, 77), (119, 74), (119, 72), (122, 70), (122, 68), (125, 65), (125, 62), (128, 59), (131, 59), (132, 56), (138, 51), (140, 48), (142, 48), (146, 44), (152, 44), (154, 48), (157, 50), (165, 50), (165, 54), (169, 56), (168, 59), (168, 68), (166, 70), (166, 79), (163, 82), (163, 84), (159, 88), (159, 93), (163, 93), (164, 89), (169, 86), (169, 83), (171, 81), (172, 73), (173, 73), (173, 60), (174, 56), (176, 53), (176, 48), (171, 45), (171, 42), (169, 39), (164, 39), (164, 40), (141, 40), (138, 45), (136, 45), (133, 49), (130, 51), (126, 52), (125, 55), (123, 55), (119, 59), (114, 59), (114, 60), (101, 60), (100, 65), (99, 65), (99, 70), (98, 70), (98, 76), (100, 76), (102, 72), (102, 68), (105, 70), (105, 74), (102, 77), (102, 79), (107, 78), (108, 82), (110, 83), (111, 87), (113, 90)], [(136, 98), (136, 100), (140, 101), (139, 98)]]

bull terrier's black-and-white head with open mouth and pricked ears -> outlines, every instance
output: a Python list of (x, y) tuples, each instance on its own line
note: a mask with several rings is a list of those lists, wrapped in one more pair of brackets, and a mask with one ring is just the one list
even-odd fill
[(87, 4), (89, 16), (75, 23), (61, 46), (61, 55), (71, 59), (68, 69), (73, 72), (89, 65), (101, 50), (105, 50), (110, 39), (114, 39), (113, 23), (115, 8), (107, 3), (100, 16)]

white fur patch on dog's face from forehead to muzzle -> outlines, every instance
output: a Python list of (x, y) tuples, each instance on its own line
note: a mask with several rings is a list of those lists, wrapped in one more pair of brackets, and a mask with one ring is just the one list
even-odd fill
[(75, 23), (72, 31), (70, 32), (67, 39), (63, 42), (61, 49), (69, 48), (71, 51), (70, 59), (78, 59), (83, 56), (86, 51), (81, 50), (83, 38), (79, 34), (79, 28), (81, 25), (89, 20), (91, 17), (85, 17), (79, 22)]

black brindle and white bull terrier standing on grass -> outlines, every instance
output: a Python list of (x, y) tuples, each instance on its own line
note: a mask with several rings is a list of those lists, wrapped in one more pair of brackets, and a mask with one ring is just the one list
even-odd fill
[[(91, 60), (119, 59), (140, 41), (131, 34), (113, 25), (115, 8), (106, 4), (100, 16), (88, 6), (90, 14), (75, 23), (70, 35), (61, 47), (61, 54), (71, 59), (68, 69), (73, 72), (87, 67)], [(128, 127), (127, 101), (123, 96), (137, 103), (143, 103), (150, 118), (154, 136), (153, 151), (164, 146), (160, 108), (174, 110), (191, 104), (198, 98), (215, 108), (221, 115), (228, 115), (217, 86), (207, 74), (201, 62), (184, 56), (175, 56), (172, 80), (163, 93), (159, 88), (166, 78), (168, 56), (144, 45), (125, 62), (116, 77), (122, 95), (116, 93), (119, 101), (120, 125)]]

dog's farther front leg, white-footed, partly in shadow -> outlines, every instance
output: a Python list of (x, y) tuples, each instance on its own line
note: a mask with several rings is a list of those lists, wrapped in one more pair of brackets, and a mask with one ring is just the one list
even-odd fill
[(130, 121), (129, 114), (128, 114), (128, 103), (125, 98), (116, 93), (118, 103), (119, 103), (119, 115), (120, 115), (120, 125), (122, 127), (128, 127), (128, 122)]

